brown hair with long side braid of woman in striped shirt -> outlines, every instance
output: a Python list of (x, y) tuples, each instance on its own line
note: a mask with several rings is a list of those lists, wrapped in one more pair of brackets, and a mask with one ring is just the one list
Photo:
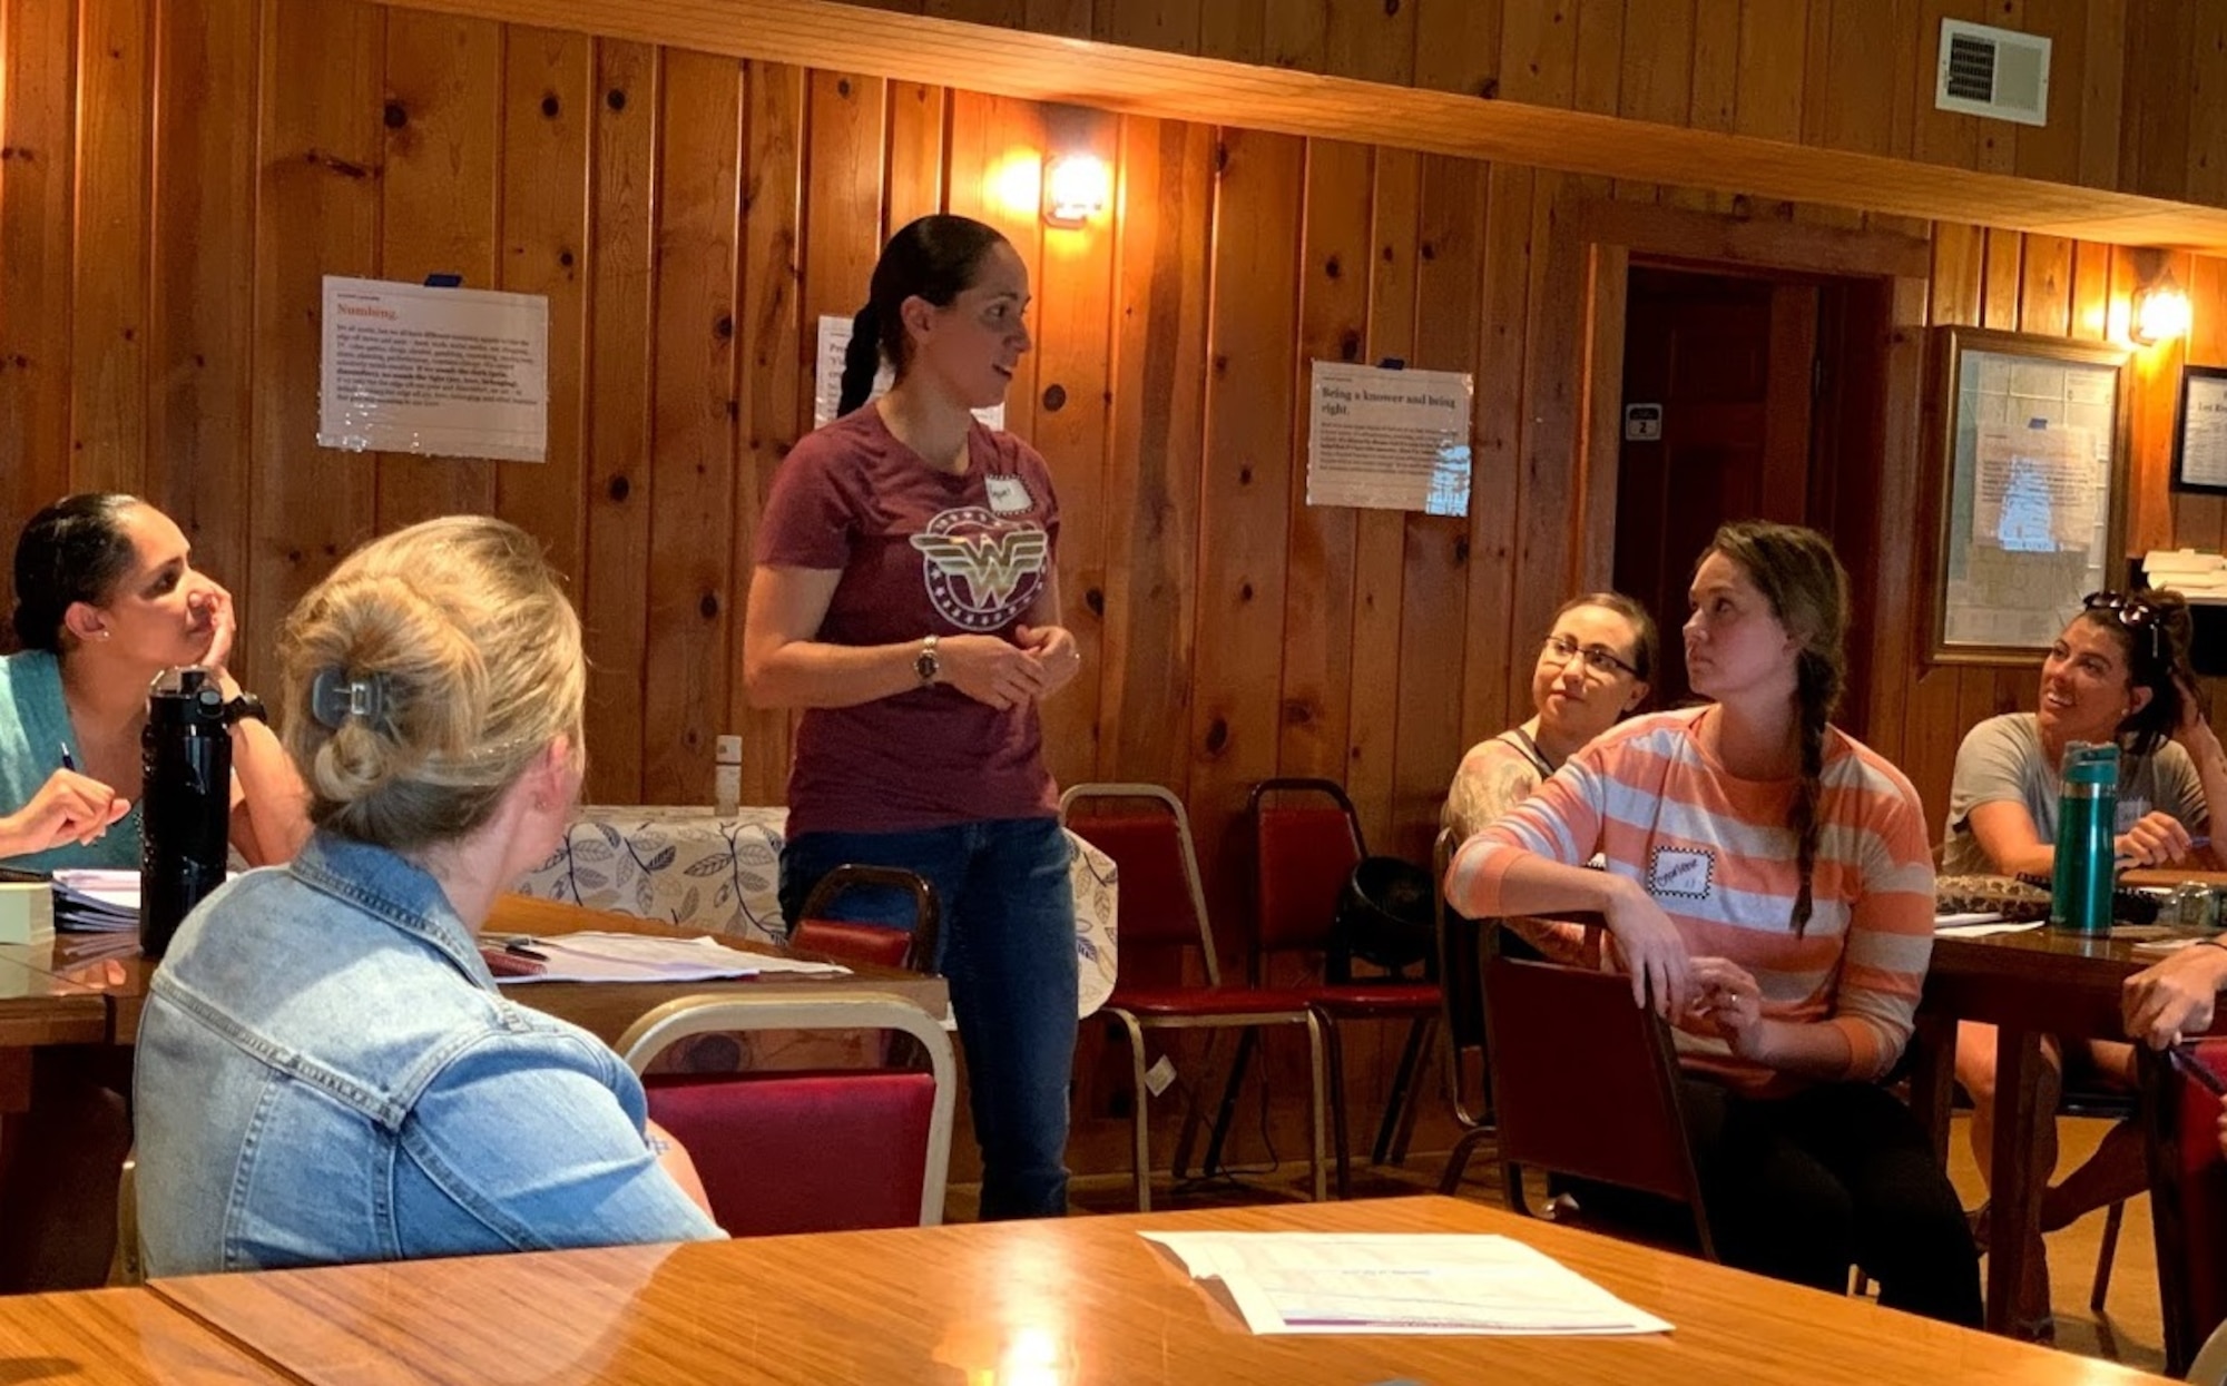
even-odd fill
[(1802, 653), (1795, 655), (1802, 780), (1786, 807), (1786, 827), (1795, 836), (1795, 867), (1802, 871), (1791, 920), (1799, 936), (1813, 914), (1826, 724), (1848, 686), (1848, 653), (1842, 648), (1848, 635), (1848, 570), (1840, 566), (1831, 539), (1797, 524), (1759, 519), (1728, 524), (1717, 530), (1701, 557), (1710, 553), (1739, 564), (1755, 590), (1770, 602), (1770, 615), (1802, 642)]

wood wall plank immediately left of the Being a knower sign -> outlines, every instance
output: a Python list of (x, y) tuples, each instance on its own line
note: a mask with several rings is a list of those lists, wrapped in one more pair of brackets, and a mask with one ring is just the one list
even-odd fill
[(1218, 905), (1243, 900), (1245, 793), (1276, 771), (1283, 682), (1283, 537), (1289, 526), (1298, 363), (1298, 216), (1305, 145), (1220, 129), (1207, 345), (1207, 452), (1198, 524), (1191, 827)]

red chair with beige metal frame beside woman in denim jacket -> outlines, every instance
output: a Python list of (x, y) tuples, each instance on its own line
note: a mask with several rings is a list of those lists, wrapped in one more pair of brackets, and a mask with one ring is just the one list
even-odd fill
[(875, 992), (684, 996), (635, 1021), (617, 1050), (639, 1074), (666, 1045), (735, 1029), (891, 1029), (926, 1052), (929, 1072), (644, 1078), (650, 1119), (688, 1148), (728, 1234), (931, 1228), (944, 1219), (958, 1070), (951, 1036), (933, 1016)]

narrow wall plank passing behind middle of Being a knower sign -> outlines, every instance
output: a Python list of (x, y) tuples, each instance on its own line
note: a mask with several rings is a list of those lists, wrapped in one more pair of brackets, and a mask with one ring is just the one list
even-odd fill
[[(1370, 238), (1370, 325), (1363, 361), (1414, 357), (1416, 225), (1423, 160), (1407, 149), (1376, 152), (1374, 225)], [(1354, 655), (1345, 746), (1345, 793), (1370, 842), (1392, 840), (1394, 751), (1399, 738), (1401, 597), (1407, 526), (1396, 510), (1354, 517)]]

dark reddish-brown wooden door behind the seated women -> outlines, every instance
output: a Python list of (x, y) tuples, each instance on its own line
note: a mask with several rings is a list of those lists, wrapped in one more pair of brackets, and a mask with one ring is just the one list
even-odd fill
[(1679, 626), (1701, 546), (1728, 519), (1804, 524), (1817, 285), (1632, 267), (1623, 403), (1657, 406), (1661, 437), (1626, 441), (1617, 472), (1617, 588), (1655, 613), (1655, 706), (1690, 697)]

